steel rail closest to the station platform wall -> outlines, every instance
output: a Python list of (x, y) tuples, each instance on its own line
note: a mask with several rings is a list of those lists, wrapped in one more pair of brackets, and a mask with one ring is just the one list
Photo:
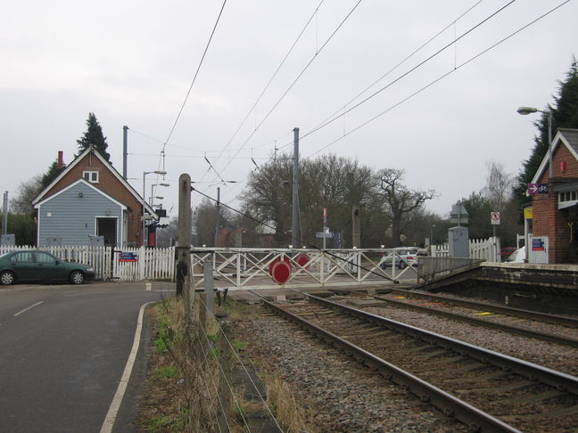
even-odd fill
[(521, 308), (513, 308), (511, 306), (493, 306), (489, 304), (484, 304), (483, 302), (475, 302), (466, 299), (448, 298), (445, 296), (432, 295), (429, 293), (417, 293), (414, 290), (392, 289), (392, 291), (396, 293), (403, 293), (404, 295), (409, 295), (413, 298), (435, 299), (456, 306), (476, 307), (494, 313), (500, 313), (502, 315), (512, 315), (515, 317), (523, 317), (525, 319), (540, 320), (542, 322), (563, 325), (569, 328), (578, 328), (578, 319), (566, 317), (564, 315), (549, 315), (548, 313), (541, 313), (539, 311), (532, 311), (532, 310), (524, 310)]

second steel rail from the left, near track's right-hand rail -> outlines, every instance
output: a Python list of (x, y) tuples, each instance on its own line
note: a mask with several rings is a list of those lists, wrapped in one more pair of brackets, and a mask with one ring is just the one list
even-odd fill
[(318, 298), (310, 293), (301, 292), (311, 300), (318, 302), (330, 309), (340, 311), (348, 315), (359, 317), (369, 323), (375, 323), (404, 334), (410, 335), (417, 339), (422, 339), (434, 344), (438, 347), (450, 348), (458, 354), (467, 355), (483, 364), (491, 364), (504, 371), (515, 372), (530, 380), (538, 380), (550, 387), (558, 390), (566, 390), (574, 395), (578, 395), (578, 378), (564, 372), (557, 372), (556, 370), (543, 367), (541, 365), (529, 363), (527, 361), (517, 359), (513, 356), (508, 356), (494, 352), (493, 350), (478, 347), (473, 344), (466, 343), (458, 339), (450, 339), (441, 334), (432, 331), (425, 331), (415, 326), (406, 323), (400, 323), (392, 319), (386, 319), (379, 315), (372, 315), (365, 311), (352, 308), (351, 306), (343, 306), (327, 299)]

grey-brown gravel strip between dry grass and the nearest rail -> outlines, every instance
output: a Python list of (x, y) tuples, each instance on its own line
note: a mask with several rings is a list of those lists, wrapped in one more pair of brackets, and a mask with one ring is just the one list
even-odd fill
[(235, 321), (235, 338), (247, 344), (245, 350), (258, 369), (273, 365), (293, 386), (302, 404), (313, 411), (318, 431), (470, 431), (263, 306), (252, 309), (251, 319)]

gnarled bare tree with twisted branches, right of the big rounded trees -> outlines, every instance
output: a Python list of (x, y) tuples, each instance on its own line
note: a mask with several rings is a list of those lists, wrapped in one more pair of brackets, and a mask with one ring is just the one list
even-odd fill
[(384, 168), (377, 174), (381, 182), (381, 195), (384, 197), (385, 212), (392, 220), (392, 244), (400, 246), (401, 223), (413, 213), (419, 211), (425, 200), (432, 200), (433, 190), (410, 190), (403, 184), (405, 170)]

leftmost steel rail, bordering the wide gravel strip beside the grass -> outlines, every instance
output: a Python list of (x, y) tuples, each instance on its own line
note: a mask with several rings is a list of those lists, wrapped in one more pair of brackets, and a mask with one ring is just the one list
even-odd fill
[(471, 404), (452, 396), (443, 391), (441, 388), (433, 386), (425, 380), (406, 372), (400, 367), (388, 363), (384, 359), (367, 352), (367, 350), (356, 346), (349, 341), (342, 339), (332, 332), (326, 331), (314, 323), (301, 318), (299, 315), (287, 311), (282, 306), (277, 306), (265, 298), (260, 297), (257, 293), (249, 290), (252, 295), (259, 298), (263, 305), (276, 312), (278, 315), (285, 317), (287, 320), (296, 323), (301, 329), (312, 331), (320, 339), (334, 347), (341, 348), (350, 353), (356, 360), (366, 364), (372, 370), (378, 371), (384, 378), (393, 380), (401, 387), (408, 388), (410, 392), (418, 396), (423, 402), (432, 404), (442, 410), (443, 413), (451, 415), (458, 421), (465, 423), (473, 431), (488, 433), (522, 433), (520, 430), (500, 421), (499, 419), (485, 413)]

